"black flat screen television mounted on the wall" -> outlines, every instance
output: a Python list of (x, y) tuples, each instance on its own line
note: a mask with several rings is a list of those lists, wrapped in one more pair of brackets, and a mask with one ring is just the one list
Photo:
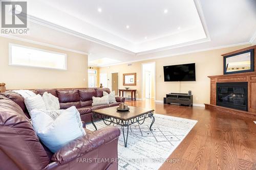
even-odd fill
[(196, 63), (163, 66), (164, 81), (196, 81)]

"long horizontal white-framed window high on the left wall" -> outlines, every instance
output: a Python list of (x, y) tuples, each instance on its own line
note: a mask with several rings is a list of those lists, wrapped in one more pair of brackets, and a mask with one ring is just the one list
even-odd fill
[(67, 69), (67, 55), (38, 48), (9, 44), (9, 65)]

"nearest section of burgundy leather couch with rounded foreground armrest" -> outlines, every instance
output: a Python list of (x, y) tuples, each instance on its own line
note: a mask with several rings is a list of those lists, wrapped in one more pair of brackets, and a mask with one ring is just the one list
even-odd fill
[[(65, 98), (70, 96), (66, 92), (57, 91), (61, 96), (61, 107), (71, 101), (77, 101), (79, 106), (80, 95), (74, 94), (71, 100)], [(20, 102), (17, 98), (15, 100)], [(23, 104), (19, 104), (23, 108), (0, 95), (0, 169), (118, 169), (118, 128), (109, 126), (94, 132), (86, 129), (86, 135), (71, 141), (56, 153), (51, 153), (39, 141), (29, 118), (23, 112)]]

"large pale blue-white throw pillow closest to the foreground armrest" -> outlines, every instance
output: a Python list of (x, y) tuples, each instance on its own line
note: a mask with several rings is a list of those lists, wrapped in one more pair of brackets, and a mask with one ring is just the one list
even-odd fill
[(60, 110), (61, 113), (56, 119), (45, 112), (48, 111), (33, 110), (31, 118), (37, 136), (53, 153), (65, 144), (86, 134), (82, 128), (80, 115), (77, 116), (78, 111), (75, 106)]

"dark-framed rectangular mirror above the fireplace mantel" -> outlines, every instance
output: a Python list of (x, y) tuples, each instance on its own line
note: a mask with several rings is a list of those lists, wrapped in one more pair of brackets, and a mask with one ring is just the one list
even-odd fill
[(254, 49), (224, 56), (224, 75), (254, 71)]

